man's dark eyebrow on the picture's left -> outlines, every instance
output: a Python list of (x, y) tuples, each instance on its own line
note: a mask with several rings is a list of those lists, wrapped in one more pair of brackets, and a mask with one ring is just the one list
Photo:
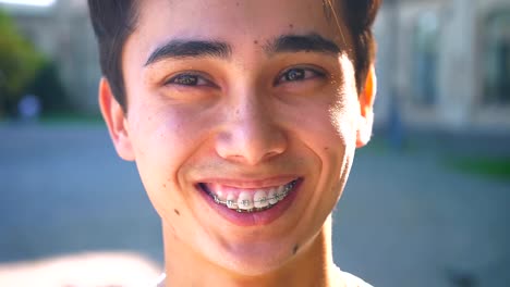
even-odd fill
[(206, 41), (206, 40), (171, 40), (161, 47), (158, 47), (150, 53), (145, 66), (156, 63), (167, 58), (201, 58), (201, 57), (216, 57), (216, 58), (230, 58), (232, 48), (220, 41)]

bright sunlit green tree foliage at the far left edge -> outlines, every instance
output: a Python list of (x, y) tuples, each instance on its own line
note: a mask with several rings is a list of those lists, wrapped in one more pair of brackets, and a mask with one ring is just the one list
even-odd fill
[(42, 54), (19, 34), (11, 17), (0, 10), (0, 115), (15, 113), (19, 99), (44, 63)]

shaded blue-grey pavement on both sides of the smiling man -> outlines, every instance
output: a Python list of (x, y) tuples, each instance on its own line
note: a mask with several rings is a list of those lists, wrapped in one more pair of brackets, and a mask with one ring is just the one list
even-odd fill
[[(361, 150), (335, 213), (335, 257), (375, 286), (508, 286), (510, 183), (434, 152)], [(161, 261), (160, 223), (101, 125), (0, 125), (0, 262), (88, 250)]]

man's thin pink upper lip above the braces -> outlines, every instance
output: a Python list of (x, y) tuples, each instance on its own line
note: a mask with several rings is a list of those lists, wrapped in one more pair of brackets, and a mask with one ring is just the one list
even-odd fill
[(197, 180), (198, 184), (218, 184), (234, 188), (268, 188), (282, 186), (300, 178), (298, 175), (283, 175), (266, 178), (224, 178), (209, 177)]

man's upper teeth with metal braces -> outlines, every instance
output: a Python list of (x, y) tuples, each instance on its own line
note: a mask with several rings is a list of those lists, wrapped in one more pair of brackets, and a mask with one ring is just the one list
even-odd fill
[(210, 196), (214, 197), (216, 203), (227, 205), (229, 209), (252, 212), (274, 207), (283, 200), (294, 186), (295, 180), (275, 188), (259, 189), (255, 192), (241, 191), (236, 198), (232, 192), (229, 192), (227, 197), (222, 192), (210, 194)]

